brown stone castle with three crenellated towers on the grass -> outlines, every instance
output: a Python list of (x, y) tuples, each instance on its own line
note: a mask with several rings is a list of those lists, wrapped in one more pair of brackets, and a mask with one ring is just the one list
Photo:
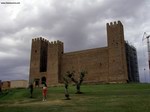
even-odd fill
[(128, 69), (124, 30), (120, 21), (107, 23), (107, 47), (64, 53), (63, 42), (40, 37), (32, 39), (29, 80), (36, 85), (57, 85), (63, 75), (86, 70), (85, 83), (126, 83)]

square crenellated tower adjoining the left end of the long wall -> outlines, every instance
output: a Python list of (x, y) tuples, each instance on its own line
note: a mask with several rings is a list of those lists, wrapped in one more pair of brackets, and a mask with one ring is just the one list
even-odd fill
[(58, 84), (61, 79), (61, 60), (64, 53), (63, 42), (57, 40), (48, 44), (47, 82)]

